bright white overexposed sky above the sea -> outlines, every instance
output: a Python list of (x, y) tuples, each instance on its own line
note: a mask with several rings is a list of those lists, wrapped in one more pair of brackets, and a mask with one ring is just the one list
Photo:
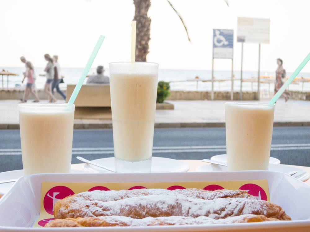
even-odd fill
[[(234, 30), (233, 69), (241, 68), (237, 17), (270, 19), (270, 44), (261, 45), (260, 69), (277, 68), (283, 60), (294, 71), (310, 52), (309, 0), (151, 0), (148, 62), (162, 69), (212, 69), (213, 29)], [(62, 67), (84, 67), (100, 34), (106, 36), (93, 67), (130, 61), (132, 0), (0, 0), (0, 68), (22, 66), (25, 56), (43, 67), (45, 53), (57, 54)], [(258, 70), (258, 44), (245, 43), (243, 70)], [(230, 59), (215, 59), (215, 70), (231, 70)], [(308, 63), (303, 72), (310, 72)]]

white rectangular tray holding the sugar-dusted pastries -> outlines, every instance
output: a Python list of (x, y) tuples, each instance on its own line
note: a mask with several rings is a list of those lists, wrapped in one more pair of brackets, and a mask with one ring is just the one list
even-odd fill
[[(40, 212), (41, 183), (51, 182), (189, 182), (267, 179), (270, 200), (293, 221), (226, 225), (31, 228)], [(0, 200), (0, 231), (310, 231), (310, 186), (280, 172), (200, 172), (146, 174), (36, 174), (21, 177)]]

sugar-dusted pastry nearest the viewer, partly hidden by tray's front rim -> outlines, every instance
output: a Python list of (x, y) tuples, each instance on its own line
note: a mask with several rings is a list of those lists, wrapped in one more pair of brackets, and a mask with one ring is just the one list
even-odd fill
[(278, 219), (268, 218), (263, 215), (246, 214), (225, 219), (213, 219), (210, 217), (145, 217), (135, 219), (122, 216), (105, 217), (84, 217), (55, 219), (45, 225), (45, 227), (89, 227), (89, 226), (165, 226), (165, 225), (203, 225), (203, 224), (228, 224), (275, 221)]

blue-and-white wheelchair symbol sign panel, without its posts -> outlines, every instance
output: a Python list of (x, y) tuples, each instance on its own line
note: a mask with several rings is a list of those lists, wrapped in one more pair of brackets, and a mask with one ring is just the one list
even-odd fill
[(213, 29), (213, 58), (233, 58), (233, 30)]

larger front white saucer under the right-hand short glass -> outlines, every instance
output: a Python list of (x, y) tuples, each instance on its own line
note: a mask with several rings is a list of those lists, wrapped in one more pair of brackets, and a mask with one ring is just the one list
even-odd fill
[[(198, 167), (196, 171), (197, 172), (227, 171), (227, 167), (217, 164), (206, 164)], [(283, 173), (291, 173), (293, 171), (297, 171), (297, 173), (293, 175), (293, 177), (295, 177), (296, 179), (306, 181), (310, 178), (310, 174), (305, 170), (284, 164), (269, 164), (268, 171), (277, 171)]]

